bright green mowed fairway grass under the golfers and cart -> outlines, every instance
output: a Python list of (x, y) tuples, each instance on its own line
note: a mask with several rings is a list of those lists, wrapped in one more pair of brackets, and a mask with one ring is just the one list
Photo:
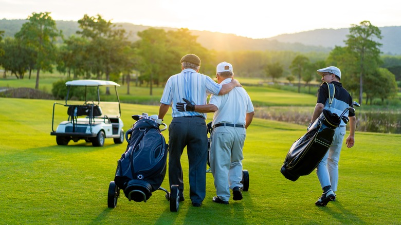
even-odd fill
[[(213, 178), (207, 174), (202, 207), (189, 199), (188, 160), (182, 157), (185, 198), (172, 213), (165, 193), (147, 202), (129, 201), (121, 192), (107, 208), (108, 184), (126, 144), (106, 139), (104, 147), (79, 141), (57, 146), (50, 136), (54, 101), (0, 98), (0, 218), (4, 224), (399, 224), (401, 221), (401, 135), (356, 134), (355, 147), (343, 147), (337, 200), (316, 207), (321, 189), (316, 174), (296, 182), (280, 167), (304, 126), (254, 119), (247, 130), (243, 166), (249, 191), (229, 205), (212, 202)], [(63, 103), (63, 101), (59, 101)], [(57, 110), (56, 123), (67, 119)], [(157, 106), (122, 104), (124, 130), (131, 115), (158, 113)], [(171, 111), (169, 111), (171, 113)], [(208, 121), (212, 115), (209, 115)], [(171, 115), (165, 122), (170, 124)], [(57, 124), (56, 124), (57, 126)], [(56, 128), (56, 126), (54, 128)], [(163, 132), (168, 140), (168, 132)], [(348, 134), (347, 134), (348, 135)], [(206, 170), (206, 166), (205, 166)], [(161, 185), (168, 189), (168, 175)]]

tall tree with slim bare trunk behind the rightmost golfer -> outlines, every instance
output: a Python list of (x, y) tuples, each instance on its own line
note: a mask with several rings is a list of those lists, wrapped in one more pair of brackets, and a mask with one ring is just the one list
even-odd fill
[(369, 21), (362, 21), (359, 25), (351, 25), (350, 34), (345, 41), (349, 51), (355, 55), (357, 59), (359, 71), (359, 102), (362, 102), (363, 94), (363, 77), (368, 74), (375, 73), (380, 60), (381, 44), (375, 39), (381, 39), (381, 31), (378, 27), (373, 26)]

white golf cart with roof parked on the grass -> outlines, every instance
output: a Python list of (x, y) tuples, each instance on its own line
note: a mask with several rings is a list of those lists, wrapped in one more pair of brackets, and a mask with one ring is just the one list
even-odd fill
[[(67, 81), (65, 85), (67, 86), (65, 104), (57, 102), (53, 104), (52, 132), (50, 135), (56, 136), (57, 144), (67, 145), (70, 140), (77, 142), (83, 139), (86, 142), (92, 142), (93, 146), (103, 146), (105, 138), (113, 138), (116, 144), (123, 143), (124, 130), (122, 127), (124, 124), (120, 119), (120, 99), (117, 93), (117, 86), (120, 85), (113, 81), (101, 80)], [(99, 88), (103, 86), (114, 86), (117, 102), (100, 102)], [(83, 103), (76, 104), (78, 101), (72, 102), (71, 100), (67, 103), (71, 87), (84, 88), (85, 101)], [(87, 99), (91, 88), (97, 88), (97, 101)], [(54, 131), (54, 108), (56, 105), (67, 107), (68, 119), (61, 122)]]

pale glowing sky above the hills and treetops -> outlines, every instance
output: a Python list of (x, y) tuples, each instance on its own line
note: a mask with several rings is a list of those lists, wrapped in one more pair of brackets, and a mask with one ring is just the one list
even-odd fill
[(53, 20), (78, 21), (100, 14), (113, 23), (232, 33), (253, 39), (315, 29), (349, 28), (370, 21), (401, 26), (398, 0), (0, 0), (0, 19), (50, 12)]

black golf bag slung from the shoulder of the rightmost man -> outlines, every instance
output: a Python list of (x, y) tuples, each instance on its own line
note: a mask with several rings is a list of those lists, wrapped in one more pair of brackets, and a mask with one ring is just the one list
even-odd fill
[[(329, 85), (329, 96), (331, 100), (334, 98), (334, 87), (331, 85)], [(352, 105), (359, 106), (355, 101)], [(306, 134), (295, 141), (289, 149), (280, 170), (285, 178), (296, 181), (300, 176), (308, 175), (315, 170), (329, 151), (335, 129), (340, 125), (341, 120), (345, 124), (348, 123), (349, 118), (344, 116), (345, 113), (347, 111), (355, 112), (352, 105), (346, 108), (340, 116), (323, 109), (320, 116), (309, 126)]]

